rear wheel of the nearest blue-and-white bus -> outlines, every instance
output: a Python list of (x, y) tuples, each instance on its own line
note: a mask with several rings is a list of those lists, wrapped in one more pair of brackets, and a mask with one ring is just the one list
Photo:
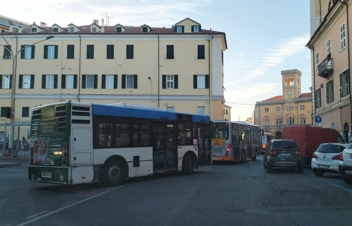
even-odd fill
[(108, 186), (122, 184), (126, 179), (125, 165), (117, 159), (108, 161), (102, 169), (102, 182)]

